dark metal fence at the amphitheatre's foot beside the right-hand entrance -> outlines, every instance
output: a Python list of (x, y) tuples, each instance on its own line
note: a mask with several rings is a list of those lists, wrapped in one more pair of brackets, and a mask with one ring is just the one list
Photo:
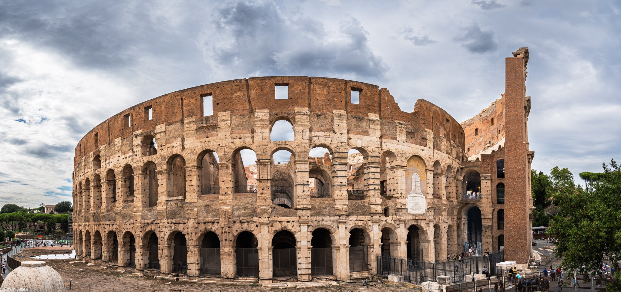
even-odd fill
[(470, 273), (483, 273), (483, 267), (492, 268), (489, 270), (490, 275), (502, 275), (502, 271), (495, 267), (496, 263), (502, 262), (503, 259), (504, 252), (500, 251), (490, 254), (489, 262), (484, 257), (466, 257), (461, 260), (432, 263), (382, 256), (378, 256), (377, 261), (379, 275), (399, 274), (404, 276), (404, 280), (415, 283), (437, 281), (438, 276), (446, 276), (452, 283), (459, 283)]

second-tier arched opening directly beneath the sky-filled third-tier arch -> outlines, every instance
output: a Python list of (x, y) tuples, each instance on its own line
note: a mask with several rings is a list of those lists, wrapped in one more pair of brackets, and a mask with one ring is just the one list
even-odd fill
[[(283, 161), (275, 161), (281, 159)], [(271, 167), (271, 200), (274, 205), (283, 208), (292, 208), (295, 203), (295, 172), (294, 155), (286, 149), (281, 149), (272, 155)]]

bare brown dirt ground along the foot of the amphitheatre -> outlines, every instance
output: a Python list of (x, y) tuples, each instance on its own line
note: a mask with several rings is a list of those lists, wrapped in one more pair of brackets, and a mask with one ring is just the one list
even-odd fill
[[(25, 257), (18, 257), (20, 261), (27, 260), (30, 255), (41, 254), (60, 254), (69, 253), (71, 250), (65, 249), (26, 249), (20, 255)], [(140, 291), (140, 292), (198, 292), (198, 291), (274, 291), (265, 287), (250, 286), (250, 285), (226, 285), (226, 284), (214, 284), (214, 283), (192, 283), (186, 281), (171, 281), (171, 280), (158, 280), (151, 277), (140, 277), (132, 275), (130, 273), (119, 273), (113, 270), (104, 269), (97, 265), (88, 266), (86, 263), (70, 263), (70, 260), (46, 260), (47, 265), (57, 270), (58, 273), (65, 280), (65, 285), (69, 288), (71, 281), (71, 291), (89, 291), (88, 284), (91, 286), (90, 291)], [(360, 280), (356, 280), (360, 281)], [(340, 283), (339, 286), (322, 287), (322, 288), (309, 288), (312, 291), (317, 292), (329, 292), (329, 291), (394, 291), (402, 292), (412, 290), (415, 286), (406, 283), (370, 283), (371, 286), (365, 288), (361, 283)], [(96, 287), (99, 286), (99, 287)]]

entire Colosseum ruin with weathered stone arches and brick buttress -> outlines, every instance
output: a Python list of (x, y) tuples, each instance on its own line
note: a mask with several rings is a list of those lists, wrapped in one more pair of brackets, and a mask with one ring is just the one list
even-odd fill
[[(504, 94), (461, 124), (427, 100), (403, 112), (386, 88), (327, 77), (215, 82), (127, 108), (75, 149), (78, 257), (261, 282), (370, 277), (379, 259), (470, 248), (526, 265), (527, 62), (528, 48), (506, 58)], [(274, 139), (276, 123), (292, 139)]]

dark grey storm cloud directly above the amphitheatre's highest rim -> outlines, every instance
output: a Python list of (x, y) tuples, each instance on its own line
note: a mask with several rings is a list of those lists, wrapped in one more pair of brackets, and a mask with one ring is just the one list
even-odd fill
[[(331, 39), (316, 20), (286, 17), (273, 2), (236, 2), (215, 11), (217, 35), (205, 43), (215, 66), (238, 68), (240, 75), (354, 74), (381, 77), (386, 65), (368, 43), (368, 32), (355, 17)], [(210, 60), (206, 60), (210, 62)], [(243, 68), (239, 68), (243, 64)]]

